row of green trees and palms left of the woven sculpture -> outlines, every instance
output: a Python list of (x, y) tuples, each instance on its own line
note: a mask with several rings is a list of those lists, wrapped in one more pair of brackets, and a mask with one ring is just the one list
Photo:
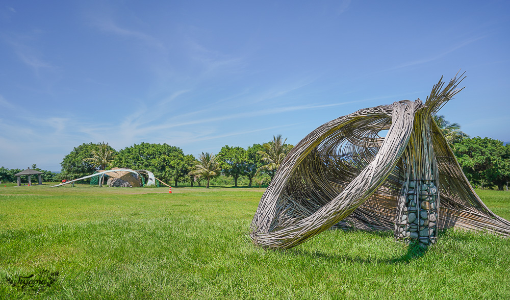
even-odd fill
[[(244, 177), (248, 187), (253, 183), (259, 187), (268, 184), (274, 177), (276, 169), (293, 145), (287, 144), (281, 135), (273, 136), (273, 140), (264, 144), (253, 144), (246, 149), (239, 146), (225, 145), (218, 154), (201, 153), (198, 158), (184, 154), (183, 150), (166, 143), (134, 144), (117, 151), (108, 143), (83, 143), (74, 147), (60, 163), (62, 171), (44, 177), (44, 181), (73, 180), (88, 176), (98, 170), (113, 167), (127, 167), (135, 170), (146, 169), (164, 182), (178, 186), (179, 183), (201, 185), (206, 182), (209, 187), (212, 179), (219, 176), (232, 177), (234, 185)], [(34, 168), (34, 167), (33, 167)], [(40, 169), (38, 169), (40, 170)], [(0, 169), (0, 180), (14, 182), (12, 176), (18, 169)], [(2, 175), (6, 173), (9, 176)], [(12, 173), (12, 174), (11, 174)]]

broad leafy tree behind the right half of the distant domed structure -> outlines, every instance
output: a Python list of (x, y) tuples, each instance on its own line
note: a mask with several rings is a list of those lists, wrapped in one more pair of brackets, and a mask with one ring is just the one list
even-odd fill
[(121, 149), (113, 160), (113, 166), (149, 170), (157, 178), (168, 182), (179, 179), (179, 170), (182, 168), (183, 160), (184, 153), (179, 147), (166, 143), (142, 142)]

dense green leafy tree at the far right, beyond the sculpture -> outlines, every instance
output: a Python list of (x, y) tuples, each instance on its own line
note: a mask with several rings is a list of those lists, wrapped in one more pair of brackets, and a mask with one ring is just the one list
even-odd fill
[(510, 163), (508, 147), (491, 138), (474, 137), (455, 144), (455, 156), (466, 177), (482, 188), (497, 185), (499, 190), (508, 182)]

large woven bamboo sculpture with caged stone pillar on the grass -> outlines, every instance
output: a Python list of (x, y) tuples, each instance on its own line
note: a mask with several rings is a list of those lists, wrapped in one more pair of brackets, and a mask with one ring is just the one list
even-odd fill
[(481, 202), (433, 121), (462, 90), (462, 79), (442, 80), (425, 104), (362, 109), (302, 139), (261, 198), (254, 244), (290, 248), (331, 227), (393, 230), (425, 247), (450, 227), (510, 236), (510, 222)]

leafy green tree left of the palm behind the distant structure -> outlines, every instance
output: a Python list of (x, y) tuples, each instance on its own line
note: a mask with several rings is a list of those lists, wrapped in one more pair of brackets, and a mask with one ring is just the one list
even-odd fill
[(83, 143), (74, 147), (60, 163), (62, 172), (59, 174), (59, 178), (72, 180), (92, 174), (95, 171), (94, 164), (84, 161), (84, 159), (92, 158), (92, 151), (95, 147), (94, 143)]

